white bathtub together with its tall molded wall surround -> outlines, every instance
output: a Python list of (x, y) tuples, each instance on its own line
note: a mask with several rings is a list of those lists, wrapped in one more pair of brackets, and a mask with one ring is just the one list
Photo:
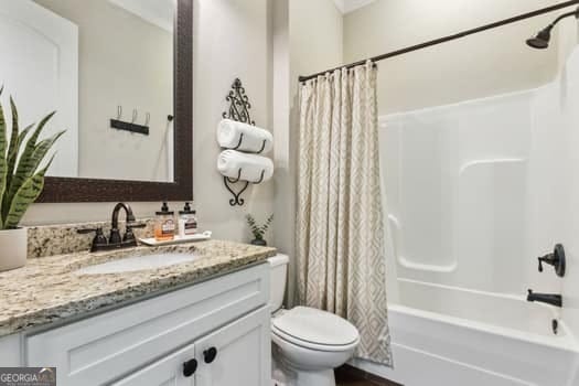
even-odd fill
[[(396, 367), (357, 366), (408, 385), (579, 385), (577, 106), (576, 47), (539, 88), (383, 120)], [(555, 243), (564, 278), (537, 269)], [(564, 308), (527, 302), (527, 288), (562, 293)]]

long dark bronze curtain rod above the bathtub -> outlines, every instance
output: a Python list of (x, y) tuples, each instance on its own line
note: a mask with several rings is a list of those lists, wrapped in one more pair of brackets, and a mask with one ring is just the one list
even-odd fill
[(315, 77), (318, 77), (320, 75), (324, 75), (324, 74), (326, 74), (329, 72), (333, 72), (335, 69), (340, 69), (340, 68), (344, 68), (344, 67), (345, 68), (352, 68), (352, 67), (362, 65), (362, 64), (366, 63), (367, 61), (372, 61), (374, 63), (375, 62), (379, 62), (379, 61), (384, 61), (384, 60), (389, 58), (389, 57), (399, 56), (399, 55), (407, 54), (407, 53), (412, 52), (412, 51), (418, 51), (418, 50), (422, 50), (422, 49), (426, 49), (426, 47), (430, 47), (432, 45), (447, 43), (447, 42), (450, 42), (450, 41), (453, 41), (453, 40), (457, 40), (457, 39), (465, 37), (465, 36), (469, 36), (469, 35), (472, 35), (472, 34), (475, 34), (475, 33), (479, 33), (479, 32), (483, 32), (483, 31), (486, 31), (486, 30), (492, 30), (492, 29), (495, 29), (495, 28), (498, 28), (498, 26), (516, 23), (516, 22), (525, 20), (525, 19), (535, 18), (535, 17), (538, 17), (538, 15), (542, 15), (542, 14), (545, 14), (545, 13), (549, 13), (549, 12), (553, 12), (553, 11), (557, 11), (557, 10), (562, 9), (562, 8), (571, 7), (571, 6), (575, 6), (575, 4), (579, 4), (579, 0), (571, 0), (571, 1), (561, 2), (561, 3), (556, 4), (556, 6), (542, 8), (539, 10), (536, 10), (536, 11), (533, 11), (533, 12), (523, 13), (523, 14), (516, 15), (514, 18), (501, 20), (501, 21), (497, 21), (497, 22), (494, 22), (494, 23), (491, 23), (491, 24), (485, 24), (485, 25), (482, 25), (482, 26), (479, 26), (479, 28), (475, 28), (475, 29), (472, 29), (472, 30), (467, 30), (467, 31), (459, 32), (459, 33), (455, 33), (455, 34), (452, 34), (452, 35), (448, 35), (448, 36), (444, 36), (444, 37), (435, 39), (435, 40), (431, 40), (431, 41), (428, 41), (428, 42), (425, 42), (425, 43), (420, 43), (420, 44), (411, 45), (411, 46), (406, 47), (406, 49), (388, 52), (386, 54), (374, 56), (374, 57), (371, 57), (371, 58), (367, 58), (367, 60), (350, 63), (350, 64), (346, 64), (346, 65), (343, 65), (343, 66), (340, 66), (340, 67), (322, 71), (322, 72), (319, 72), (319, 73), (315, 73), (315, 74), (312, 74), (312, 75), (308, 75), (308, 76), (300, 76), (299, 79), (300, 79), (300, 82), (305, 82), (305, 81), (309, 81), (309, 79), (313, 79), (313, 78), (315, 78)]

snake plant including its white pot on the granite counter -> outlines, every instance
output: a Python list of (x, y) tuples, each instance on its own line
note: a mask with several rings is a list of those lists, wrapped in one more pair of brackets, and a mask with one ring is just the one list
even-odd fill
[[(0, 96), (3, 87), (0, 88)], [(44, 162), (53, 144), (64, 131), (39, 140), (51, 112), (34, 128), (31, 125), (20, 130), (18, 109), (10, 98), (12, 132), (8, 139), (4, 110), (0, 104), (0, 271), (19, 268), (26, 264), (28, 233), (20, 221), (30, 204), (44, 187), (44, 174), (54, 156)]]

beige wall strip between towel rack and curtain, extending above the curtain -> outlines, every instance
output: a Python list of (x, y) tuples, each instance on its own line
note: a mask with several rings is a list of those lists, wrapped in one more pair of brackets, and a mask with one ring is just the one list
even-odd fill
[[(343, 62), (343, 18), (333, 0), (275, 0), (274, 120), (276, 135), (275, 245), (290, 256), (288, 302), (294, 283), (298, 76)], [(289, 116), (288, 116), (289, 112)]]

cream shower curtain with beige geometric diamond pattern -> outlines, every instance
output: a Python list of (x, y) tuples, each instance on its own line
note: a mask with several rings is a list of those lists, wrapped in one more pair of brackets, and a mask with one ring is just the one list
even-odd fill
[(360, 358), (392, 366), (372, 63), (300, 87), (297, 300), (360, 331)]

